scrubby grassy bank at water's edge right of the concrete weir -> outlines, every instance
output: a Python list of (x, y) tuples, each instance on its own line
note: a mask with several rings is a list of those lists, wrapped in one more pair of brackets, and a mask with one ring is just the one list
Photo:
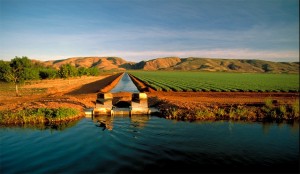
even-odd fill
[(247, 121), (294, 121), (299, 120), (299, 100), (293, 104), (279, 104), (266, 100), (263, 106), (230, 105), (186, 108), (170, 103), (160, 104), (162, 116), (177, 120), (247, 120)]

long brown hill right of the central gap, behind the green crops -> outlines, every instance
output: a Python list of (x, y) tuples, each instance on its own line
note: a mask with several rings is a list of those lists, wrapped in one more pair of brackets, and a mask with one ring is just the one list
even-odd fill
[(157, 58), (132, 66), (142, 70), (299, 73), (299, 62), (271, 62), (254, 59)]

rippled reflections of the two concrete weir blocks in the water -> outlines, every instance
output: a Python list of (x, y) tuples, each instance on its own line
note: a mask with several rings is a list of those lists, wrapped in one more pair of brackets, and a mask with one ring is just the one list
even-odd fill
[(135, 128), (144, 128), (150, 119), (148, 115), (115, 115), (115, 116), (92, 116), (92, 120), (96, 123), (97, 127), (101, 127), (102, 130), (113, 130), (113, 121), (115, 117), (127, 117), (130, 118), (130, 124)]

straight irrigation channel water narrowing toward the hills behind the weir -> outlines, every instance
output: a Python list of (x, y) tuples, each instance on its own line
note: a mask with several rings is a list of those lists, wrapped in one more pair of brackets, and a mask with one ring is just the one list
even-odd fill
[(124, 73), (119, 83), (110, 92), (139, 92), (127, 73)]

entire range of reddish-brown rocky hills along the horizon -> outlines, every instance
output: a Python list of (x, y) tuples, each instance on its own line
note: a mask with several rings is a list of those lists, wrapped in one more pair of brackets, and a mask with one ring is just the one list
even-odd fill
[(256, 59), (212, 58), (156, 58), (141, 62), (128, 62), (119, 57), (73, 57), (41, 62), (59, 68), (63, 64), (76, 67), (97, 67), (101, 70), (182, 70), (211, 72), (299, 73), (299, 62), (271, 62)]

